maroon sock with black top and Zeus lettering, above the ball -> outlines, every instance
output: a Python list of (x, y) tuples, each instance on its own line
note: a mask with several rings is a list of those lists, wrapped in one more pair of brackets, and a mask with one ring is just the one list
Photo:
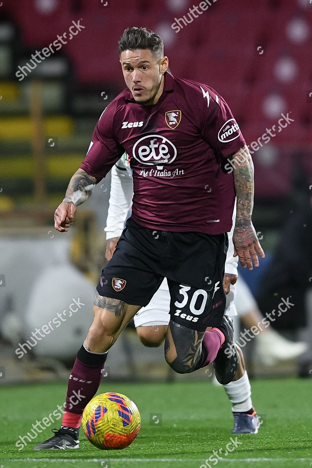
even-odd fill
[(100, 386), (106, 354), (92, 353), (82, 345), (69, 377), (65, 411), (81, 415)]

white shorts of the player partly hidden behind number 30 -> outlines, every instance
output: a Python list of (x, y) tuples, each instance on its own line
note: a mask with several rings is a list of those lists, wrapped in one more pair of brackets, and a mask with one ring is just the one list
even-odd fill
[[(235, 285), (230, 285), (230, 292), (226, 296), (226, 315), (237, 315), (234, 305)], [(168, 325), (170, 321), (169, 314), (170, 294), (166, 278), (164, 278), (159, 289), (155, 292), (149, 304), (141, 307), (139, 312), (134, 315), (135, 327), (152, 327), (153, 325)]]

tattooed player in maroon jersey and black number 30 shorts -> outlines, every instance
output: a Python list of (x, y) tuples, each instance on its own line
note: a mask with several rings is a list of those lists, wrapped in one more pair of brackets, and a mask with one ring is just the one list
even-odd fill
[[(224, 315), (227, 232), (237, 197), (235, 256), (250, 270), (264, 256), (252, 225), (253, 163), (223, 98), (205, 84), (173, 77), (162, 39), (128, 28), (119, 39), (127, 88), (103, 111), (88, 153), (55, 211), (67, 232), (77, 206), (126, 152), (134, 179), (131, 218), (103, 269), (94, 320), (77, 353), (62, 426), (35, 449), (77, 448), (85, 405), (99, 387), (107, 352), (167, 278), (165, 359), (178, 373), (214, 363), (220, 383), (238, 367), (233, 325)], [(232, 172), (224, 163), (231, 159)], [(73, 406), (73, 392), (84, 395)]]

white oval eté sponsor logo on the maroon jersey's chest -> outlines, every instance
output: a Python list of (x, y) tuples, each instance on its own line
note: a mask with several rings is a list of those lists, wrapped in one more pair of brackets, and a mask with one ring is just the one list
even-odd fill
[(140, 138), (133, 147), (134, 158), (142, 164), (170, 164), (176, 159), (177, 148), (165, 137), (148, 135)]

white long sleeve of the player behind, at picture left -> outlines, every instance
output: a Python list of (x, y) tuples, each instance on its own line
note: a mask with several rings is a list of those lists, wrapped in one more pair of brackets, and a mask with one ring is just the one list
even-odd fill
[(123, 161), (111, 169), (111, 193), (106, 220), (106, 239), (120, 237), (133, 198), (133, 179)]

